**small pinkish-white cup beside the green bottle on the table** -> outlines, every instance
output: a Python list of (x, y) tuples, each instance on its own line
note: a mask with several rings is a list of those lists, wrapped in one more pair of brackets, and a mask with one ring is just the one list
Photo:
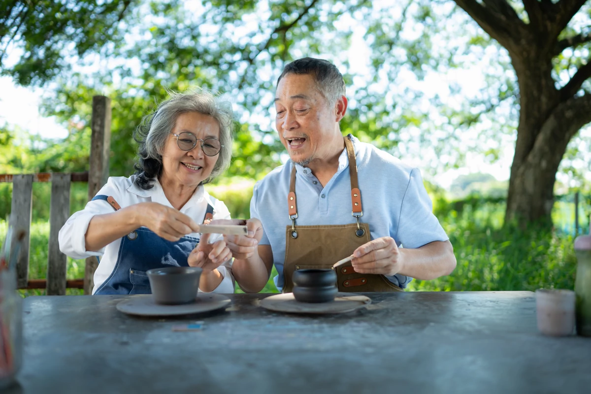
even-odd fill
[(574, 330), (574, 291), (538, 289), (535, 291), (535, 310), (538, 330), (544, 335), (563, 337)]

